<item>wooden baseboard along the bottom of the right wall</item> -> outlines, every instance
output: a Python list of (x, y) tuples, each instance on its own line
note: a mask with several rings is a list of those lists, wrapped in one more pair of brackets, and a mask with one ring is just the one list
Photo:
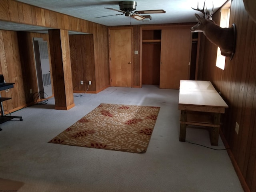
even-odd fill
[(236, 159), (235, 159), (235, 157), (234, 157), (234, 155), (233, 155), (233, 153), (232, 153), (232, 151), (230, 149), (230, 146), (229, 146), (228, 142), (226, 141), (226, 138), (224, 137), (224, 134), (222, 133), (221, 130), (220, 130), (220, 137), (221, 137), (221, 139), (222, 139), (222, 141), (223, 141), (223, 143), (225, 145), (225, 148), (227, 149), (228, 156), (229, 156), (229, 158), (230, 158), (230, 160), (232, 162), (232, 165), (233, 165), (233, 167), (234, 167), (234, 169), (236, 171), (236, 174), (237, 174), (238, 179), (239, 179), (239, 181), (240, 181), (240, 183), (242, 185), (242, 188), (244, 189), (244, 192), (250, 192), (250, 189), (249, 189), (249, 187), (248, 187), (248, 185), (247, 185), (247, 183), (246, 183), (246, 181), (244, 179), (244, 176), (243, 176), (243, 174), (242, 174), (242, 172), (241, 172), (241, 170), (240, 170), (240, 168), (239, 168), (239, 166), (238, 166), (238, 164), (236, 162)]

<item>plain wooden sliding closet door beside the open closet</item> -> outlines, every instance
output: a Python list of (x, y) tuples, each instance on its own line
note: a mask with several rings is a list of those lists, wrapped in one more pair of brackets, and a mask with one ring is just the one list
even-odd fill
[(189, 28), (162, 30), (160, 88), (179, 89), (189, 79), (190, 42)]

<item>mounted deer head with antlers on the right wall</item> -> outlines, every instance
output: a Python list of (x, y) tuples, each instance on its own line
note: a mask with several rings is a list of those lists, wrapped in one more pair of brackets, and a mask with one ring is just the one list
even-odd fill
[[(204, 2), (205, 6), (205, 2)], [(194, 8), (192, 8), (194, 9)], [(203, 17), (200, 17), (198, 14), (195, 14), (198, 23), (190, 28), (191, 32), (203, 32), (206, 38), (210, 40), (213, 44), (220, 47), (221, 54), (223, 56), (230, 57), (232, 59), (236, 47), (236, 26), (232, 25), (230, 28), (221, 28), (211, 19), (213, 14), (213, 5), (212, 11), (198, 8), (194, 9), (200, 11), (204, 14)]]

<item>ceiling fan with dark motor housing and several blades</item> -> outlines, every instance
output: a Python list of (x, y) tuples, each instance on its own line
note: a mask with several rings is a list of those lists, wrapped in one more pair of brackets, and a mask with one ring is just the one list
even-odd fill
[[(119, 3), (119, 9), (113, 9), (113, 8), (106, 8), (105, 9), (110, 9), (113, 11), (118, 11), (121, 12), (120, 14), (115, 14), (115, 15), (125, 15), (127, 17), (132, 17), (136, 20), (143, 20), (143, 19), (152, 19), (150, 15), (139, 15), (139, 14), (152, 14), (152, 13), (165, 13), (164, 10), (143, 10), (143, 11), (135, 11), (137, 7), (137, 2), (136, 1), (120, 1)], [(133, 12), (134, 11), (134, 12)], [(107, 15), (107, 16), (101, 16), (101, 17), (108, 17), (108, 16), (114, 16), (114, 15)], [(100, 18), (100, 17), (95, 17), (95, 18)]]

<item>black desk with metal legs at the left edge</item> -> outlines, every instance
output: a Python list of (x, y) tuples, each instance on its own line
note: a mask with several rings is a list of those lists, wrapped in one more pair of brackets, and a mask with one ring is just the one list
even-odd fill
[[(0, 91), (2, 90), (6, 90), (6, 89), (10, 89), (13, 88), (14, 83), (4, 83), (3, 85), (0, 85)], [(9, 97), (0, 97), (0, 108), (1, 108), (1, 115), (0, 115), (0, 124), (9, 121), (11, 119), (17, 118), (20, 119), (20, 121), (22, 121), (22, 117), (21, 116), (9, 116), (9, 115), (4, 115), (4, 108), (2, 106), (2, 102), (9, 100), (11, 98)], [(2, 131), (2, 129), (0, 128), (0, 131)]]

